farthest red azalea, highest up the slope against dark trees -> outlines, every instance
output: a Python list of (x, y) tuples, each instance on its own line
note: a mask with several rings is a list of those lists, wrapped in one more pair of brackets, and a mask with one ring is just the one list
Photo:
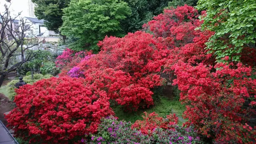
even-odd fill
[(154, 17), (154, 20), (144, 24), (143, 28), (150, 30), (156, 37), (166, 38), (174, 45), (169, 47), (179, 47), (192, 43), (193, 38), (198, 35), (196, 27), (200, 25), (198, 12), (192, 6), (184, 5), (164, 9), (163, 14)]

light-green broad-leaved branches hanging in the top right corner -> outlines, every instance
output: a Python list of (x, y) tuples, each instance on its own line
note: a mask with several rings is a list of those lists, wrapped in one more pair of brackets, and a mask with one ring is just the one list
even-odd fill
[(207, 10), (201, 29), (215, 32), (206, 45), (218, 62), (225, 56), (240, 61), (243, 47), (255, 46), (255, 0), (199, 0), (197, 9)]

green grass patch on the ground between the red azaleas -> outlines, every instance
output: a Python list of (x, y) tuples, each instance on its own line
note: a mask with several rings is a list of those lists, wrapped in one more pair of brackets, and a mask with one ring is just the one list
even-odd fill
[(179, 100), (171, 100), (167, 97), (161, 96), (156, 98), (155, 105), (147, 109), (139, 109), (137, 112), (124, 112), (122, 106), (113, 106), (113, 110), (119, 120), (130, 121), (134, 123), (136, 120), (142, 120), (142, 115), (144, 111), (147, 113), (156, 112), (159, 116), (165, 117), (170, 113), (175, 113), (178, 116), (182, 116), (182, 113), (185, 111), (185, 105), (181, 105)]

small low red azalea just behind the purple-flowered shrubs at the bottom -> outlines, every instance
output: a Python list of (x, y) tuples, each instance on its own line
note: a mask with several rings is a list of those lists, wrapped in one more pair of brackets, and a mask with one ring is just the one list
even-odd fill
[(158, 117), (155, 112), (151, 114), (144, 112), (144, 114), (143, 120), (137, 120), (132, 124), (132, 129), (140, 130), (143, 134), (151, 135), (156, 128), (173, 129), (179, 121), (175, 114), (167, 115), (166, 118)]

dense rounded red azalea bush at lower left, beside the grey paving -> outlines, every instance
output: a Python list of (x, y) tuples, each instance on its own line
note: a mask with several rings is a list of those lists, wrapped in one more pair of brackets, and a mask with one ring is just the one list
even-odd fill
[(93, 91), (82, 78), (40, 80), (16, 92), (17, 107), (6, 118), (16, 136), (32, 143), (75, 143), (114, 114), (106, 92)]

